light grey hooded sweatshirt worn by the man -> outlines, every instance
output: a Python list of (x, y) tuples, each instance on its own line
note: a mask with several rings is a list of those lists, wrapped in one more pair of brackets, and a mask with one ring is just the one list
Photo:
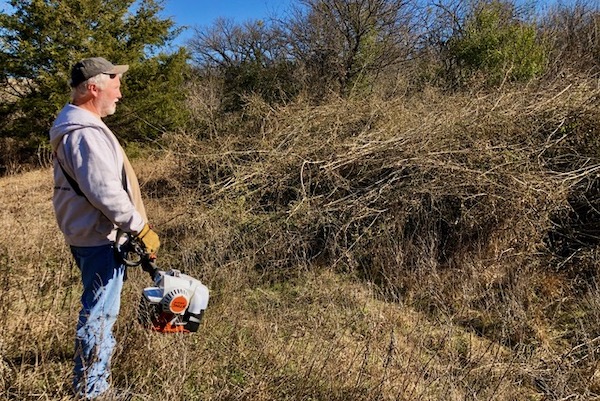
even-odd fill
[[(121, 145), (99, 117), (65, 106), (50, 129), (50, 144), (55, 152), (52, 203), (67, 244), (106, 245), (115, 240), (117, 228), (142, 230), (145, 221), (125, 189), (131, 186), (123, 183)], [(61, 165), (84, 196), (71, 187)]]

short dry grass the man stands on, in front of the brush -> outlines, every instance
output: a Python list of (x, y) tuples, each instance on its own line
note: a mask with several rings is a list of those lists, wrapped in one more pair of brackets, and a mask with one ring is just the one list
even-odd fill
[[(50, 179), (46, 169), (0, 180), (9, 205), (1, 219), (3, 399), (68, 399), (79, 283), (55, 227)], [(212, 274), (202, 331), (161, 336), (135, 323), (148, 280), (132, 272), (117, 327), (119, 384), (177, 400), (463, 399), (467, 383), (488, 395), (531, 392), (511, 384), (508, 350), (377, 300), (350, 277), (319, 269), (250, 287), (243, 264)]]

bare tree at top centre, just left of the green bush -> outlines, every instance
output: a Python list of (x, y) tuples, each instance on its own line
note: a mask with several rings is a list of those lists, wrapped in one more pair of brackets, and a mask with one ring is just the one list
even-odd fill
[(344, 94), (406, 60), (413, 50), (410, 0), (302, 0), (287, 21), (287, 41), (308, 82)]

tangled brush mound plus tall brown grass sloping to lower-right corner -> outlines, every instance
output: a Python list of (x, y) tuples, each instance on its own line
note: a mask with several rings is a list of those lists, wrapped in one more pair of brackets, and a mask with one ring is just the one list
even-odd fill
[[(189, 252), (244, 260), (260, 282), (349, 273), (515, 355), (561, 344), (562, 362), (526, 376), (586, 393), (595, 358), (569, 350), (600, 334), (599, 94), (576, 80), (318, 107), (250, 97), (243, 116), (206, 123), (211, 139), (165, 139), (180, 174), (170, 186), (227, 226), (218, 249), (206, 238)], [(165, 184), (148, 188), (160, 197)]]

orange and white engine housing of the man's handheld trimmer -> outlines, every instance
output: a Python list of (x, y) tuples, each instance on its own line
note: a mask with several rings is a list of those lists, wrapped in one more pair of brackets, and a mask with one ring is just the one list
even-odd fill
[(198, 331), (208, 306), (208, 288), (178, 270), (159, 270), (154, 282), (142, 292), (140, 322), (161, 333)]

